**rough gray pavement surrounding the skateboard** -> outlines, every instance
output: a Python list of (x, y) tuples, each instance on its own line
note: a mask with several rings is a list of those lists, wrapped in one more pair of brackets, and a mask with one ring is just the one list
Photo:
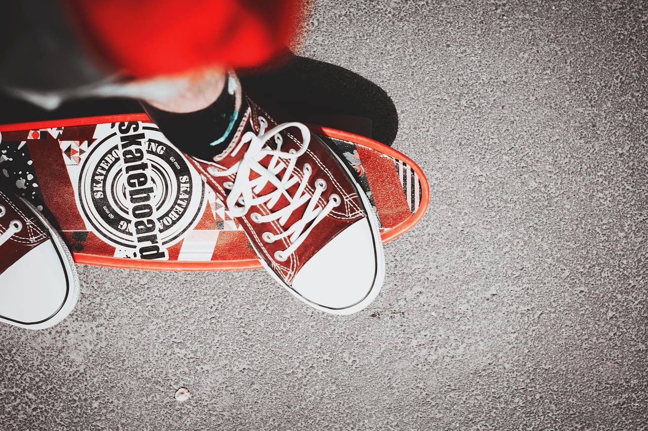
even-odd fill
[(0, 428), (645, 429), (648, 6), (533, 3), (310, 7), (298, 52), (385, 89), (432, 186), (368, 309), (80, 266), (62, 324), (0, 327)]

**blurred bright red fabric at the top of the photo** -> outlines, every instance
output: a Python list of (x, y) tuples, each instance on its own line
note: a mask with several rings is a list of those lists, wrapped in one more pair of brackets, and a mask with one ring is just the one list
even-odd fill
[(88, 48), (139, 78), (253, 67), (294, 36), (301, 0), (66, 0)]

